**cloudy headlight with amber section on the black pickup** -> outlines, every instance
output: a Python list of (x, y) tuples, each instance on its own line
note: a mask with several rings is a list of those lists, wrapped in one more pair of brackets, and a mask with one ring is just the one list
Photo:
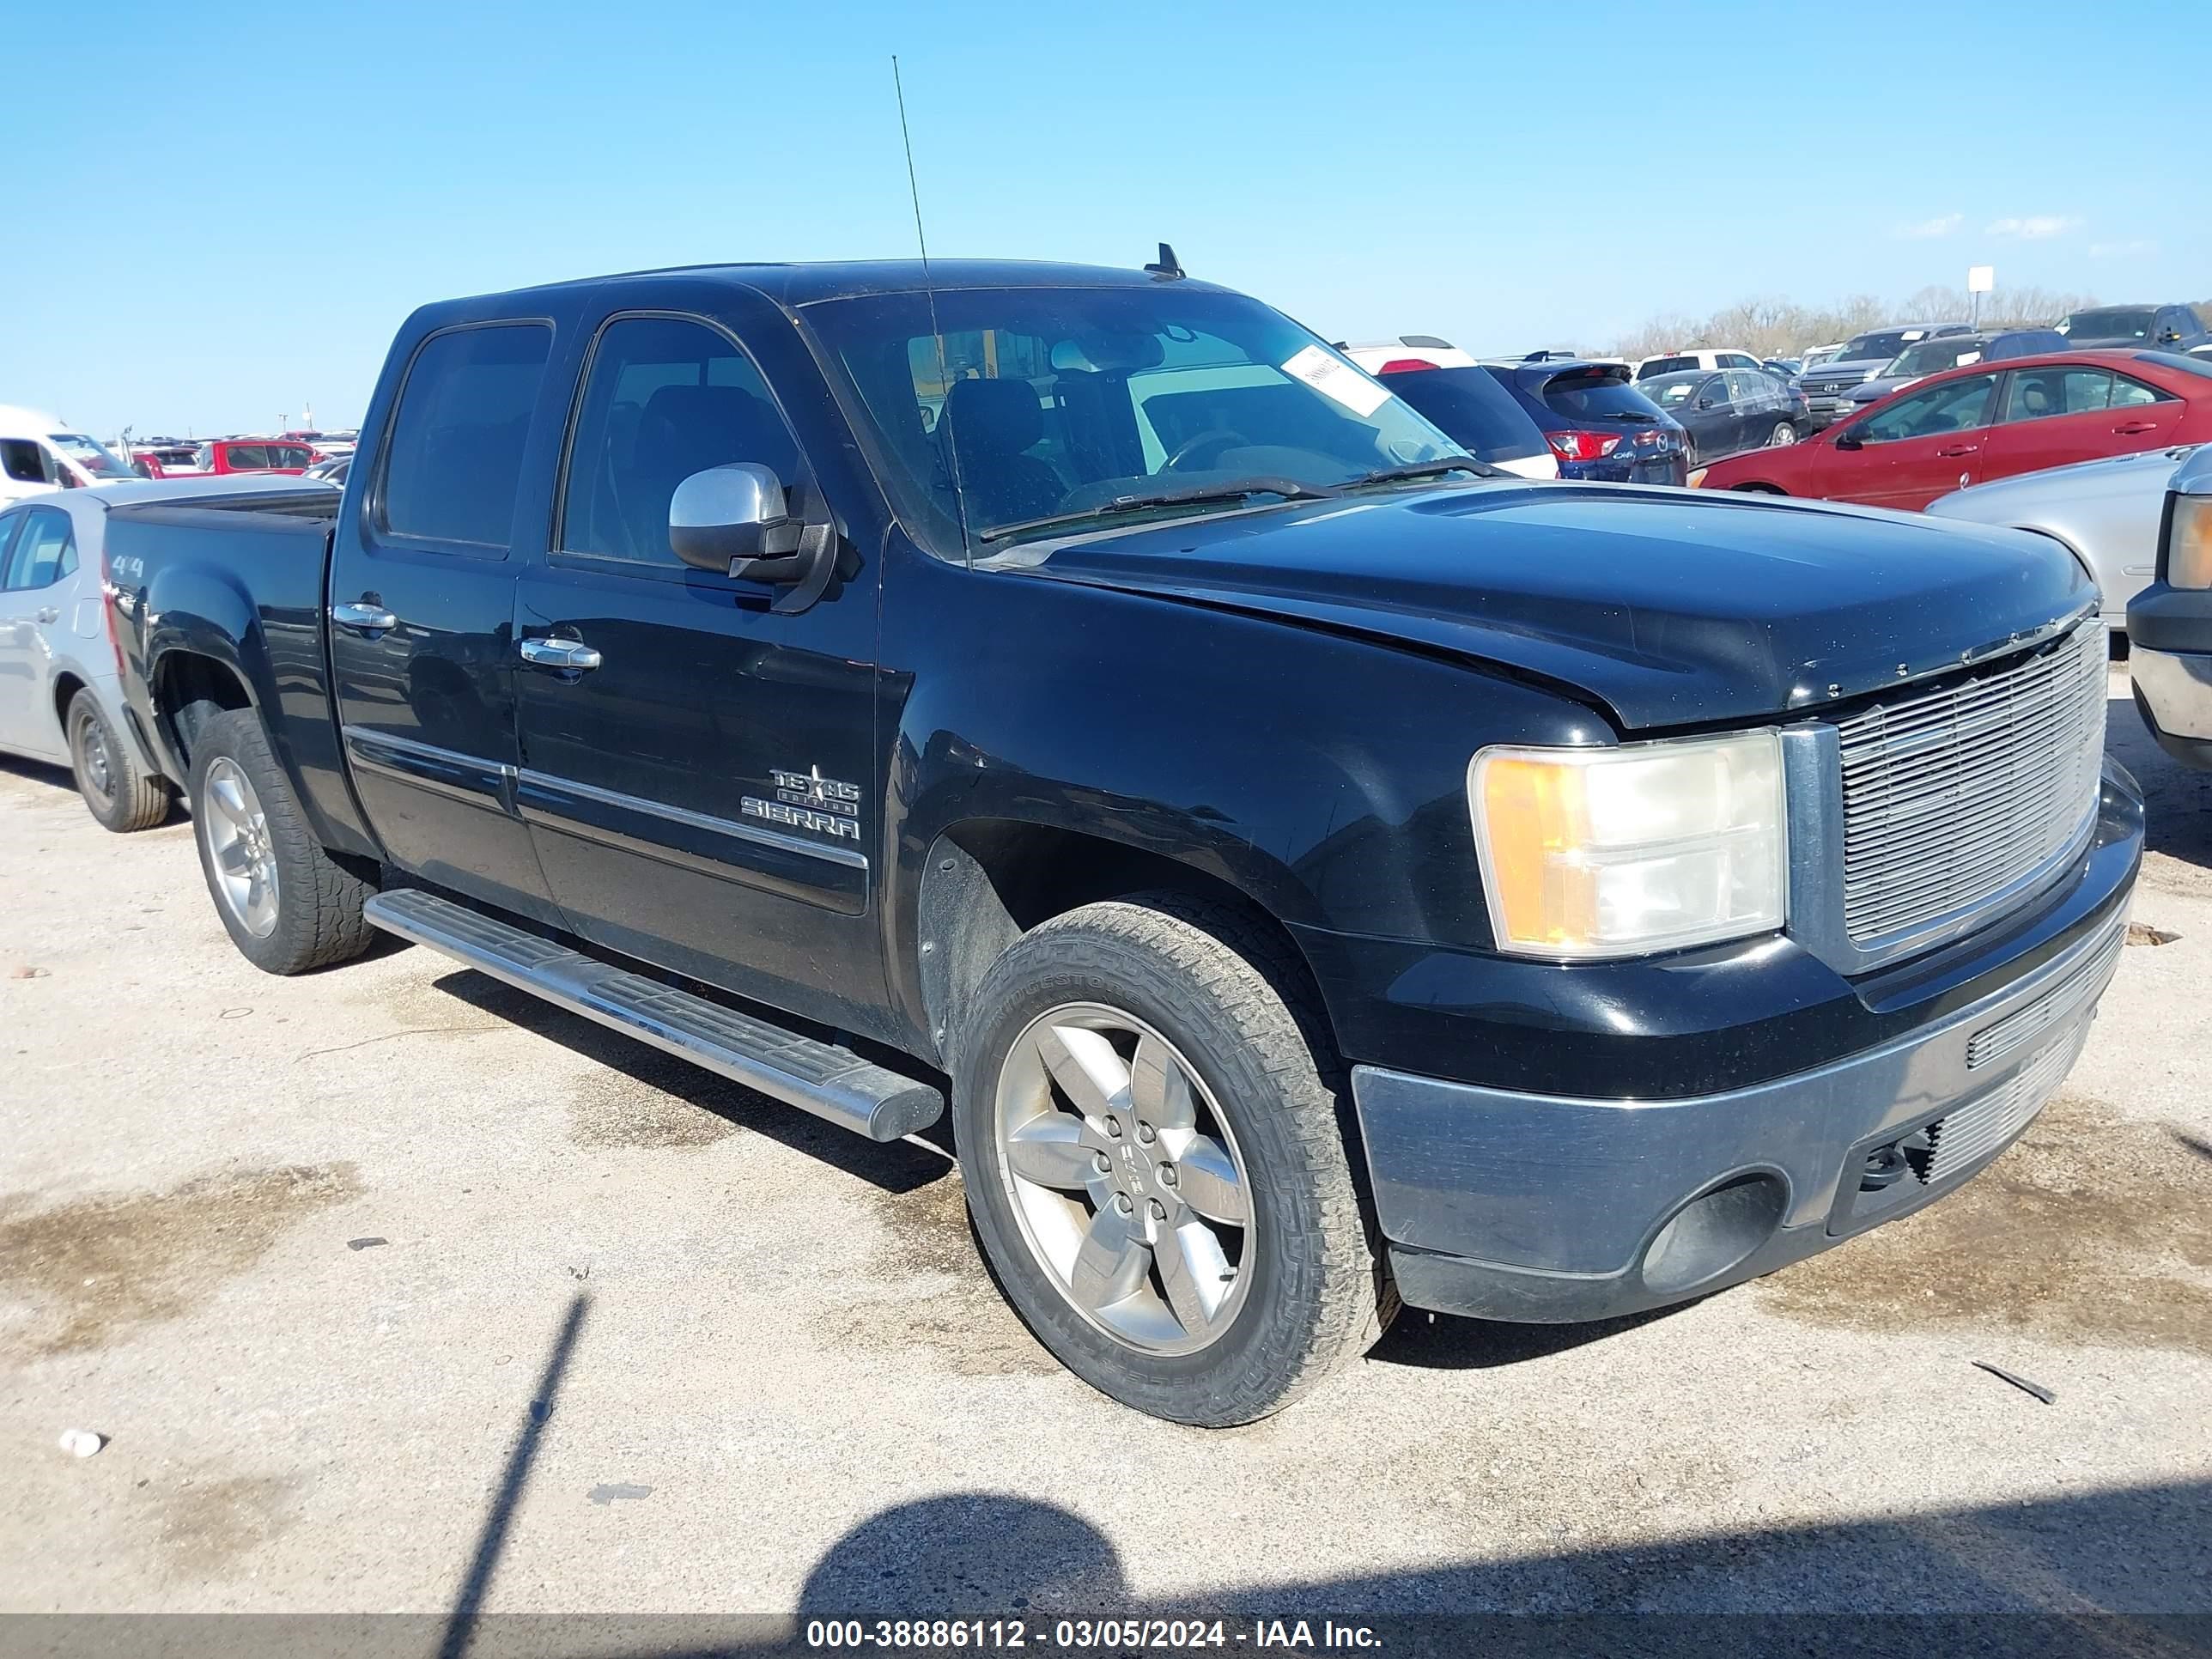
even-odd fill
[(1467, 768), (1498, 947), (1639, 956), (1783, 925), (1774, 732), (1621, 748), (1486, 748)]

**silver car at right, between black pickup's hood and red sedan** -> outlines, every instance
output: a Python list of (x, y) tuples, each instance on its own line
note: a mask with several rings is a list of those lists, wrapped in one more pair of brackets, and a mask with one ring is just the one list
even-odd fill
[(1951, 491), (1929, 502), (1927, 511), (1969, 524), (2008, 524), (2062, 542), (2097, 584), (2106, 624), (2119, 630), (2128, 624), (2128, 599), (2150, 584), (2166, 482), (2188, 453), (2183, 445), (2015, 473)]

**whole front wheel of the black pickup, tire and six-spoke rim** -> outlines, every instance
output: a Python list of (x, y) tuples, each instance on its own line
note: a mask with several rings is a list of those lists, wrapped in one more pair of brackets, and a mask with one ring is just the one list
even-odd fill
[(1175, 896), (1086, 905), (1015, 940), (973, 1009), (956, 1057), (969, 1210), (1071, 1371), (1225, 1427), (1371, 1340), (1387, 1294), (1334, 1062), (1267, 929)]

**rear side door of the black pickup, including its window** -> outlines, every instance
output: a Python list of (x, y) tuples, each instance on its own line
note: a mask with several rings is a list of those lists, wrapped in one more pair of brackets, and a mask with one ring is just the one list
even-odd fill
[[(515, 814), (513, 526), (544, 482), (553, 327), (471, 323), (422, 338), (347, 491), (330, 566), (330, 672), (345, 752), (403, 869), (555, 920)], [(372, 416), (380, 418), (380, 416)], [(542, 445), (531, 429), (544, 420)], [(540, 471), (551, 471), (546, 460)]]

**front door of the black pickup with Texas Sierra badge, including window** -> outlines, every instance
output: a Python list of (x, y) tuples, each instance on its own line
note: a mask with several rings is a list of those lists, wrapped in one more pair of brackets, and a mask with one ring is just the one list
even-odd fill
[(774, 615), (774, 591), (681, 564), (670, 493), (739, 460), (810, 489), (737, 334), (692, 314), (608, 316), (544, 557), (518, 588), (518, 799), (584, 938), (867, 1029), (885, 995), (876, 568)]

